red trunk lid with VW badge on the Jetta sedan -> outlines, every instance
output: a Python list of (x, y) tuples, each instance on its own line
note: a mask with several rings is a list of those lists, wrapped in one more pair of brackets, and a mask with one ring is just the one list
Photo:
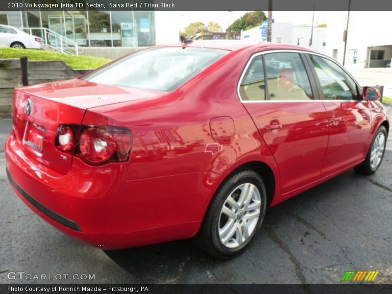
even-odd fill
[(157, 95), (157, 91), (80, 79), (17, 88), (13, 104), (15, 134), (25, 153), (65, 174), (71, 168), (73, 155), (55, 147), (59, 125), (72, 124), (77, 129), (86, 109)]

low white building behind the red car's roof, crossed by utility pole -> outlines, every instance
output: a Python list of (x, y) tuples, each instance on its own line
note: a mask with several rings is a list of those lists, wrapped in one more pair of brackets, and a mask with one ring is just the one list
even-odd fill
[[(265, 24), (241, 32), (241, 40), (266, 41)], [(307, 25), (293, 25), (284, 23), (272, 24), (272, 42), (311, 47), (312, 49), (325, 52), (327, 41), (326, 27), (312, 27)]]

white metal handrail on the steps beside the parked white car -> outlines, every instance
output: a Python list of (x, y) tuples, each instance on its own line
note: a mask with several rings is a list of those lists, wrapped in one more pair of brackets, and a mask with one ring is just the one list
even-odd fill
[[(43, 38), (44, 46), (50, 47), (54, 50), (60, 51), (61, 53), (74, 53), (79, 55), (83, 53), (83, 47), (79, 46), (75, 41), (56, 33), (46, 27), (21, 27), (21, 30), (28, 30), (32, 35), (33, 30), (41, 30), (41, 37)], [(71, 49), (72, 48), (72, 49)]]

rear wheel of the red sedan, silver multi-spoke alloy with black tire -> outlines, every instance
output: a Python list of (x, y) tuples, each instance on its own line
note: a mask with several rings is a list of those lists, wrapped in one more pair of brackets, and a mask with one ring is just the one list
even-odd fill
[(208, 207), (196, 244), (217, 258), (240, 254), (259, 230), (266, 202), (266, 188), (258, 173), (246, 169), (230, 175)]

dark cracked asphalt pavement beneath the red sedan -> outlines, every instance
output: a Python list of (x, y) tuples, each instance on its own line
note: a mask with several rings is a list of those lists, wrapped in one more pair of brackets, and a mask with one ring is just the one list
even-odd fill
[(0, 283), (338, 283), (346, 270), (378, 270), (376, 283), (392, 283), (391, 135), (375, 175), (348, 171), (267, 210), (248, 250), (222, 261), (190, 240), (102, 251), (56, 230), (10, 187), (11, 127), (0, 118)]

